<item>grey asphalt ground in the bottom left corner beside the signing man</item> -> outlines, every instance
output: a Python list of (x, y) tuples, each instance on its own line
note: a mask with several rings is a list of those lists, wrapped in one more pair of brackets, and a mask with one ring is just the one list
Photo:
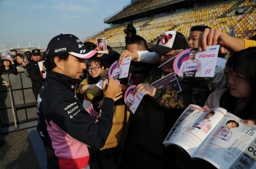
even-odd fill
[(5, 140), (0, 147), (1, 169), (46, 168), (45, 150), (36, 128), (1, 134)]

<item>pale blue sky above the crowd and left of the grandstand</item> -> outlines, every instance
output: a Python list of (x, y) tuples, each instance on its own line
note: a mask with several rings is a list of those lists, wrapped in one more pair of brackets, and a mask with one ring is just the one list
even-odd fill
[(45, 48), (56, 35), (70, 33), (82, 41), (109, 27), (104, 18), (131, 0), (0, 0), (0, 49)]

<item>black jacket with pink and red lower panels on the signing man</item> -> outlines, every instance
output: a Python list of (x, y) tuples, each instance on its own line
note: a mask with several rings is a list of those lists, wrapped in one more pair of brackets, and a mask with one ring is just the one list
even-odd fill
[(97, 123), (76, 97), (78, 79), (47, 72), (38, 99), (39, 133), (48, 168), (86, 168), (88, 146), (102, 148), (111, 131), (114, 100), (105, 97)]

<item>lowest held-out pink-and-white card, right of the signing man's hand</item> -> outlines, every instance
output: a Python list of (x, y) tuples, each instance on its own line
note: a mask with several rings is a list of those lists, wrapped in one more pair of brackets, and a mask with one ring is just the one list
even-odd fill
[(125, 104), (130, 108), (133, 114), (137, 110), (143, 96), (145, 95), (145, 93), (142, 91), (140, 91), (139, 94), (134, 95), (134, 90), (136, 89), (136, 87), (136, 85), (129, 86), (128, 89), (126, 89), (124, 95)]

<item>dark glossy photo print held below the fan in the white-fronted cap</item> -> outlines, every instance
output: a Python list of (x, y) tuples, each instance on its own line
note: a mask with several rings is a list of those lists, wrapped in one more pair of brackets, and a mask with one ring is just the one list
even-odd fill
[(181, 91), (180, 83), (178, 82), (176, 74), (174, 72), (155, 81), (154, 83), (151, 84), (151, 86), (154, 86), (157, 89), (162, 89), (162, 88), (173, 89), (177, 93)]

